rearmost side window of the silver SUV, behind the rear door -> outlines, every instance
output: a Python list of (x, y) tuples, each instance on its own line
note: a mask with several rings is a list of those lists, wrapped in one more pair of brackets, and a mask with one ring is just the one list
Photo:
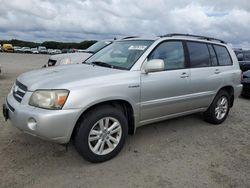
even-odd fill
[(232, 60), (225, 47), (214, 45), (214, 49), (218, 57), (219, 65), (221, 66), (232, 65)]

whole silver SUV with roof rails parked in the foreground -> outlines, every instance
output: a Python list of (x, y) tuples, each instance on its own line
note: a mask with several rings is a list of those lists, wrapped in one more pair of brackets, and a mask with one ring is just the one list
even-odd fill
[(237, 58), (221, 40), (130, 38), (83, 64), (20, 75), (3, 114), (33, 136), (57, 143), (72, 139), (85, 159), (102, 162), (142, 125), (197, 112), (222, 123), (241, 89)]

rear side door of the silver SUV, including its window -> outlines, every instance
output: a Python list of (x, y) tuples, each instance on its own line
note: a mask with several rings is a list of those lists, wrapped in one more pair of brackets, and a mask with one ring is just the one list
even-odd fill
[(216, 53), (211, 44), (186, 42), (190, 70), (193, 108), (208, 107), (223, 83)]

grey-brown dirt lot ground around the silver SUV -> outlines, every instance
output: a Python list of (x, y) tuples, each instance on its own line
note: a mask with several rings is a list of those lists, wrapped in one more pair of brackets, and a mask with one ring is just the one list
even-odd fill
[[(0, 105), (15, 78), (46, 55), (0, 53)], [(91, 164), (65, 147), (26, 135), (0, 114), (0, 187), (250, 187), (250, 99), (225, 123), (200, 115), (148, 125), (113, 160)]]

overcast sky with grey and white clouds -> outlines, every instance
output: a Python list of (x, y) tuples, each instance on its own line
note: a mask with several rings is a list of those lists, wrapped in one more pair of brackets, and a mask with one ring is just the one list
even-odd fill
[(0, 0), (0, 39), (201, 34), (250, 47), (249, 0)]

